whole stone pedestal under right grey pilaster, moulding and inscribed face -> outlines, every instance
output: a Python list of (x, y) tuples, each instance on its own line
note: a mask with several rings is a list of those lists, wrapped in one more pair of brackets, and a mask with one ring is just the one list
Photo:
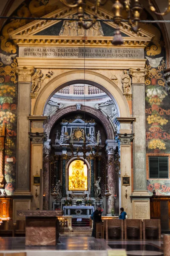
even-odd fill
[(146, 190), (133, 191), (130, 198), (132, 199), (132, 218), (150, 219), (150, 194)]

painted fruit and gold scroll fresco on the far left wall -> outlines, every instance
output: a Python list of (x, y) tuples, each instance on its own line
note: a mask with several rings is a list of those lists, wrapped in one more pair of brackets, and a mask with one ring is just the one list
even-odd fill
[[(11, 16), (42, 17), (57, 9), (56, 0), (27, 0)], [(5, 137), (5, 170), (3, 175), (7, 195), (12, 195), (16, 182), (17, 153), (17, 91), (18, 82), (15, 73), (18, 48), (9, 39), (8, 33), (26, 25), (27, 20), (11, 20), (6, 22), (0, 32), (0, 125), (6, 125)], [(7, 162), (13, 158), (13, 162)], [(3, 189), (1, 191), (3, 192)]]

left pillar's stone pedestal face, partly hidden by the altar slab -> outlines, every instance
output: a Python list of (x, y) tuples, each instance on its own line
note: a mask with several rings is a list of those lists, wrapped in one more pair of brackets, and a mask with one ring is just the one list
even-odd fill
[(16, 200), (13, 201), (14, 210), (13, 210), (13, 220), (15, 221), (24, 221), (26, 219), (25, 216), (18, 216), (17, 211), (20, 210), (28, 210), (31, 206), (30, 200)]

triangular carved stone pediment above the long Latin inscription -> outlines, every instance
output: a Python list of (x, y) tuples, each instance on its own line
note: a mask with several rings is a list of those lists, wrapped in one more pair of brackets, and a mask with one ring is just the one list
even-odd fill
[[(93, 14), (91, 10), (92, 4), (87, 2), (85, 9), (85, 19), (91, 18)], [(76, 18), (76, 9), (60, 8), (48, 15), (45, 18)], [(99, 9), (98, 18), (100, 20), (111, 19), (112, 13), (105, 9)], [(88, 23), (89, 21), (87, 21)], [(113, 22), (97, 22), (91, 29), (84, 30), (77, 27), (77, 21), (74, 20), (35, 20), (19, 29), (10, 33), (14, 42), (20, 46), (26, 44), (36, 45), (63, 45), (63, 44), (98, 44), (111, 45), (113, 40), (113, 32), (116, 25)], [(134, 33), (130, 26), (122, 22), (120, 26), (122, 36), (124, 37), (124, 44), (128, 46), (135, 45), (135, 47), (145, 47), (153, 38), (153, 35), (144, 30)], [(113, 47), (113, 46), (112, 46)]]

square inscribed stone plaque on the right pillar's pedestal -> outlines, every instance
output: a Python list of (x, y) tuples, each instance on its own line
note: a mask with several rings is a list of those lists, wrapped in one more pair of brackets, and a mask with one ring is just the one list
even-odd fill
[(134, 219), (150, 219), (150, 201), (133, 200), (133, 218)]

